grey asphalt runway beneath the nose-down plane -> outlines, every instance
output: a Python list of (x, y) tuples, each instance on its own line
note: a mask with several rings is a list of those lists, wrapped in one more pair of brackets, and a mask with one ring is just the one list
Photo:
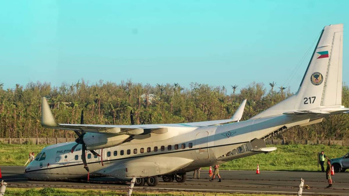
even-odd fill
[[(84, 181), (28, 181), (21, 166), (0, 166), (2, 180), (8, 187), (54, 187), (54, 188), (91, 188), (128, 190), (129, 183), (117, 182), (114, 178), (95, 178)], [(303, 189), (303, 195), (349, 195), (349, 173), (336, 173), (332, 176), (333, 188), (325, 188), (328, 184), (325, 173), (321, 172), (282, 172), (282, 171), (220, 171), (222, 182), (215, 179), (208, 181), (208, 171), (202, 170), (200, 179), (192, 179), (193, 172), (187, 173), (187, 181), (166, 183), (159, 178), (159, 185), (147, 185), (134, 188), (135, 191), (195, 191), (211, 193), (244, 193), (244, 194), (283, 194), (295, 195), (298, 192), (300, 179), (310, 189)]]

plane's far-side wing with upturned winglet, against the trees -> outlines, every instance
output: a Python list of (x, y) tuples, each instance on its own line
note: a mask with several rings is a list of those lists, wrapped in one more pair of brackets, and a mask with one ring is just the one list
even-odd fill
[(180, 123), (180, 125), (184, 126), (192, 126), (192, 127), (206, 127), (206, 126), (212, 126), (212, 125), (218, 125), (228, 122), (239, 122), (242, 118), (242, 115), (244, 113), (245, 105), (246, 105), (247, 99), (243, 100), (236, 112), (233, 116), (231, 116), (230, 119), (225, 120), (211, 120), (211, 121), (201, 121), (201, 122), (188, 122), (188, 123)]

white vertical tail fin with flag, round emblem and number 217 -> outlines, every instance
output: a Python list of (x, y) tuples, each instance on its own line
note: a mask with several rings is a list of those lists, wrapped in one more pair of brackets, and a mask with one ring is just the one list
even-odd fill
[(343, 24), (325, 26), (297, 93), (252, 119), (341, 105), (342, 55)]

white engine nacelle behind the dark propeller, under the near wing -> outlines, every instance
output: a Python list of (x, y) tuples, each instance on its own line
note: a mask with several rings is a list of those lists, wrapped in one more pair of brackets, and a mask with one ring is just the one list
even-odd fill
[(84, 143), (87, 150), (97, 150), (117, 146), (127, 140), (130, 136), (126, 134), (101, 134), (101, 133), (86, 133), (84, 135)]

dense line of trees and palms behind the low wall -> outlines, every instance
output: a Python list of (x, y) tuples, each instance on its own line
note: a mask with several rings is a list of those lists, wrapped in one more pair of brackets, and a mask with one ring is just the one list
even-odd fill
[[(232, 93), (227, 93), (232, 91)], [(84, 110), (85, 124), (129, 125), (132, 111), (136, 124), (184, 123), (228, 119), (240, 103), (247, 99), (242, 120), (266, 110), (291, 96), (289, 88), (277, 87), (275, 82), (265, 86), (251, 83), (245, 87), (210, 86), (191, 83), (141, 84), (131, 80), (120, 83), (77, 83), (52, 86), (50, 83), (30, 82), (25, 86), (3, 89), (0, 84), (0, 137), (75, 137), (73, 131), (43, 128), (41, 97), (45, 96), (59, 123), (80, 123)], [(342, 105), (349, 106), (349, 87), (343, 85)], [(295, 127), (284, 139), (342, 140), (348, 138), (349, 115), (325, 118), (321, 123)]]

